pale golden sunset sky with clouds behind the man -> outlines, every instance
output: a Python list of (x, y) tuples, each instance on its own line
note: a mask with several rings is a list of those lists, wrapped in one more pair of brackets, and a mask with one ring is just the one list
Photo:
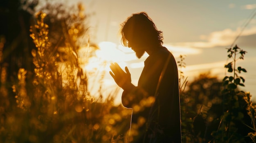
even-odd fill
[[(129, 48), (120, 46), (119, 36), (121, 22), (132, 13), (148, 13), (157, 29), (163, 31), (164, 46), (175, 55), (176, 61), (179, 55), (186, 55), (184, 75), (189, 81), (207, 71), (220, 79), (225, 77), (224, 65), (229, 62), (226, 48), (256, 13), (255, 0), (72, 0), (75, 2), (82, 2), (86, 13), (94, 13), (89, 23), (92, 40), (101, 46), (97, 56), (107, 64), (118, 62), (123, 68), (128, 66), (135, 85), (147, 55), (137, 60)], [(246, 79), (243, 90), (250, 91), (254, 98), (256, 17), (235, 44), (248, 52), (238, 66), (247, 69), (247, 73), (241, 75)], [(106, 85), (115, 85), (108, 73), (105, 81)]]

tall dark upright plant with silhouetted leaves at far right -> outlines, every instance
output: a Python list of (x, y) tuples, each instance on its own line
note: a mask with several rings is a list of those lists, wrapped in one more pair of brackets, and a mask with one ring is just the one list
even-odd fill
[(227, 68), (227, 71), (232, 74), (231, 76), (226, 76), (223, 78), (222, 85), (225, 88), (222, 90), (222, 110), (224, 114), (220, 119), (218, 130), (212, 133), (212, 135), (215, 137), (213, 142), (243, 143), (245, 142), (244, 134), (247, 134), (248, 130), (243, 129), (244, 131), (241, 132), (239, 125), (242, 125), (244, 128), (248, 128), (244, 125), (244, 117), (247, 116), (245, 107), (248, 105), (243, 100), (243, 97), (245, 97), (245, 92), (240, 91), (238, 86), (245, 86), (245, 79), (239, 74), (247, 71), (241, 66), (237, 67), (236, 64), (238, 60), (244, 59), (244, 55), (247, 52), (243, 51), (236, 45), (233, 48), (228, 48), (227, 53), (228, 58), (232, 59), (232, 61), (226, 64), (225, 68)]

